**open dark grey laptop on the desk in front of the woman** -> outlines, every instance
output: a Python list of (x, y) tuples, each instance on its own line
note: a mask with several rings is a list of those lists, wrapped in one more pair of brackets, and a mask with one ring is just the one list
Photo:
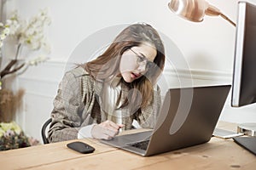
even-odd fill
[(153, 156), (207, 143), (218, 122), (230, 85), (168, 89), (153, 130), (119, 135), (103, 144)]

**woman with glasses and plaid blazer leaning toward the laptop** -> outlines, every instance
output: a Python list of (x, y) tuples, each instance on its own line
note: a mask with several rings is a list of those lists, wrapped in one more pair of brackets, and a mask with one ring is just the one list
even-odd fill
[(152, 26), (125, 28), (96, 59), (67, 71), (54, 100), (49, 142), (112, 139), (120, 129), (154, 128), (164, 46)]

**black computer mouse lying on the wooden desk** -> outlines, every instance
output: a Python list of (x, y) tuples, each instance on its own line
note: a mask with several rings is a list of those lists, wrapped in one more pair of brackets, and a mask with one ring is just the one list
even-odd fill
[(76, 150), (82, 154), (89, 154), (95, 150), (94, 147), (89, 144), (85, 144), (84, 142), (72, 142), (67, 144), (67, 147), (72, 150)]

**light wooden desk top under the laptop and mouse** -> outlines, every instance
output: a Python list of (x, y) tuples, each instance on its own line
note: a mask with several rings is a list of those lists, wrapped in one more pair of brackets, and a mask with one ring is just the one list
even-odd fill
[[(236, 130), (236, 125), (218, 123)], [(92, 154), (79, 154), (65, 141), (18, 150), (0, 151), (1, 169), (255, 169), (256, 157), (232, 139), (212, 137), (207, 144), (175, 150), (157, 156), (137, 156), (95, 139), (81, 139), (96, 148)]]

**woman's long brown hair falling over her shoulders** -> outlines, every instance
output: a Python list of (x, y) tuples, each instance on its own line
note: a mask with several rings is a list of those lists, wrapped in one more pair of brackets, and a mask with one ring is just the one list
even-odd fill
[[(139, 103), (141, 103), (142, 108), (153, 102), (153, 86), (163, 71), (166, 60), (164, 45), (158, 32), (148, 24), (128, 26), (119, 33), (102, 55), (82, 65), (96, 81), (111, 81), (119, 75), (119, 62), (125, 50), (139, 46), (142, 43), (149, 43), (156, 48), (155, 66), (153, 70), (147, 71), (143, 77), (131, 83), (126, 83), (128, 87), (136, 88), (140, 94), (137, 93), (137, 90), (133, 90), (131, 99), (126, 99), (121, 107), (128, 105), (129, 102), (130, 105), (136, 105), (138, 99), (141, 99)], [(125, 82), (124, 80), (121, 81)]]

